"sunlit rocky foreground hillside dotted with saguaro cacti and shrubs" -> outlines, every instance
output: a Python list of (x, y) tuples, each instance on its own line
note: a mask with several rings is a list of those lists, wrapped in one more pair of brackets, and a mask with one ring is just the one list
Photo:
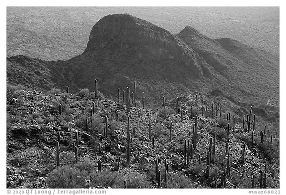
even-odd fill
[(226, 120), (234, 104), (220, 101), (210, 112), (210, 99), (202, 98), (204, 107), (193, 94), (180, 97), (180, 114), (176, 100), (154, 110), (131, 101), (127, 114), (122, 100), (95, 99), (88, 90), (8, 85), (6, 186), (280, 188), (279, 130), (266, 126), (261, 136), (263, 121), (252, 114), (248, 132), (237, 113)]

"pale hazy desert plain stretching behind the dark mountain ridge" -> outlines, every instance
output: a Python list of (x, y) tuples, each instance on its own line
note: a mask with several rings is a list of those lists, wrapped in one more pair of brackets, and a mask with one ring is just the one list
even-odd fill
[(102, 17), (129, 13), (173, 34), (190, 25), (279, 55), (279, 7), (7, 7), (7, 56), (67, 60), (81, 54)]

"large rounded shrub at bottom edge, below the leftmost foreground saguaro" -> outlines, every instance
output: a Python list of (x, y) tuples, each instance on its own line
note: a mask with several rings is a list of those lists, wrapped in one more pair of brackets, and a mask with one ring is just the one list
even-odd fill
[(47, 177), (49, 188), (83, 188), (88, 174), (85, 170), (65, 165), (52, 171)]

